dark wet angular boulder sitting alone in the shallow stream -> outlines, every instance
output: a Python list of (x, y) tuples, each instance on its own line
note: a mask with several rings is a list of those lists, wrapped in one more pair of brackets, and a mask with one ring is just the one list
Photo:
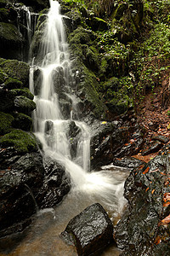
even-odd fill
[(96, 203), (72, 218), (61, 234), (81, 256), (99, 255), (113, 241), (113, 225), (105, 209)]

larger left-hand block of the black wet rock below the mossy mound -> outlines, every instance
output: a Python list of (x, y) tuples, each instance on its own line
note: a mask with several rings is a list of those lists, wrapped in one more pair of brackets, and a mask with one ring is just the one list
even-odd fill
[[(1, 156), (2, 154), (3, 152)], [(43, 177), (40, 154), (20, 156), (8, 148), (8, 156), (8, 160), (3, 159), (3, 168), (1, 167), (0, 171), (0, 236), (20, 230), (22, 224), (24, 226), (25, 221), (36, 212), (34, 199), (26, 186), (37, 193)], [(7, 163), (10, 163), (10, 166)]]

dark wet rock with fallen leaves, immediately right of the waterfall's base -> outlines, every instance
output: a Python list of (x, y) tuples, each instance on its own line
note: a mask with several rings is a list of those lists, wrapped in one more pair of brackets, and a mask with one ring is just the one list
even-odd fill
[[(121, 123), (120, 123), (121, 124)], [(144, 134), (139, 125), (119, 126), (108, 122), (96, 128), (91, 138), (91, 166), (97, 168), (111, 163), (115, 158), (137, 154), (144, 144)]]

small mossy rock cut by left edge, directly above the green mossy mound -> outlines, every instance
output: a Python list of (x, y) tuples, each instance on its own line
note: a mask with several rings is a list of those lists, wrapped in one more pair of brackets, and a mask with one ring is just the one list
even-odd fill
[(14, 117), (11, 114), (0, 112), (0, 135), (10, 131), (13, 120)]

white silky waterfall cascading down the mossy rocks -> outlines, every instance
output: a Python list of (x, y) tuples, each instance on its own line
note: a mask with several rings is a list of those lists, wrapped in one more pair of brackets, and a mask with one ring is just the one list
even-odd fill
[[(69, 90), (70, 60), (68, 45), (65, 37), (65, 27), (60, 6), (57, 1), (50, 0), (48, 18), (44, 26), (40, 53), (42, 61), (32, 61), (30, 72), (30, 90), (35, 95), (37, 108), (33, 113), (35, 134), (42, 143), (43, 152), (65, 166), (66, 172), (71, 175), (74, 191), (94, 195), (105, 201), (108, 205), (113, 202), (118, 206), (119, 198), (122, 200), (123, 182), (118, 183), (111, 174), (105, 170), (101, 172), (88, 172), (90, 168), (90, 128), (85, 123), (74, 119), (72, 111), (76, 110), (74, 100), (69, 119), (65, 119), (59, 102), (59, 90), (64, 91), (65, 97), (74, 99)], [(40, 76), (40, 90), (35, 93), (36, 84), (34, 73), (38, 70)], [(55, 74), (63, 73), (64, 82), (56, 83)], [(79, 130), (77, 153), (71, 157), (71, 145), (68, 138), (69, 124), (74, 121)], [(122, 200), (123, 201), (123, 200)], [(116, 207), (114, 205), (114, 207)], [(122, 202), (121, 202), (122, 205)]]

